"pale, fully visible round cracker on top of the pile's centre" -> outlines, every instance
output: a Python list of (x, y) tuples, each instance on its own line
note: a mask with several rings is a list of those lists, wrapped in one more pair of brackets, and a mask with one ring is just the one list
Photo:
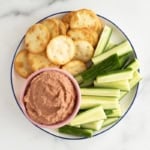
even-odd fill
[(74, 42), (64, 35), (53, 38), (47, 46), (47, 57), (54, 64), (64, 65), (74, 57), (74, 54)]

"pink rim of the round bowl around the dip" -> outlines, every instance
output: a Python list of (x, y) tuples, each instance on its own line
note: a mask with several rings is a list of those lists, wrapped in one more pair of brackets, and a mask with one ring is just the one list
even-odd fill
[[(32, 120), (31, 117), (28, 115), (28, 113), (26, 111), (26, 108), (25, 108), (25, 105), (23, 103), (23, 98), (24, 98), (24, 95), (26, 93), (26, 90), (28, 89), (28, 85), (30, 84), (30, 82), (36, 76), (38, 76), (39, 74), (41, 74), (43, 72), (59, 72), (60, 74), (65, 75), (71, 81), (72, 85), (75, 88), (75, 92), (76, 92), (76, 103), (75, 103), (75, 107), (73, 108), (72, 113), (65, 120), (63, 120), (61, 122), (58, 122), (56, 124), (52, 124), (52, 125), (44, 125), (44, 124), (40, 124), (40, 123), (37, 123), (36, 121)], [(39, 126), (41, 128), (57, 129), (57, 128), (60, 128), (60, 127), (62, 127), (64, 125), (68, 124), (76, 116), (76, 114), (78, 113), (79, 108), (80, 108), (80, 103), (81, 103), (81, 92), (80, 92), (80, 87), (79, 87), (77, 81), (73, 78), (73, 76), (70, 73), (68, 73), (65, 70), (56, 68), (56, 67), (50, 67), (50, 68), (43, 68), (43, 69), (40, 69), (38, 71), (35, 71), (34, 73), (32, 73), (26, 79), (24, 85), (22, 86), (22, 90), (21, 90), (20, 97), (19, 97), (18, 101), (19, 101), (19, 104), (20, 104), (20, 106), (21, 106), (21, 108), (23, 110), (24, 115), (27, 117), (27, 119), (30, 122), (32, 122), (33, 124), (35, 124), (35, 125), (37, 125), (37, 126)]]

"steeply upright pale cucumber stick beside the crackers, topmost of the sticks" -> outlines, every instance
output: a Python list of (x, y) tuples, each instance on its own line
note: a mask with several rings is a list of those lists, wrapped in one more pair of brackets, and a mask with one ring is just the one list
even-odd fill
[(112, 34), (112, 28), (105, 25), (103, 32), (100, 36), (100, 39), (98, 41), (97, 47), (95, 49), (94, 56), (97, 56), (104, 51), (104, 49), (105, 49), (105, 47), (106, 47), (106, 45), (107, 45), (107, 43), (111, 37), (111, 34)]

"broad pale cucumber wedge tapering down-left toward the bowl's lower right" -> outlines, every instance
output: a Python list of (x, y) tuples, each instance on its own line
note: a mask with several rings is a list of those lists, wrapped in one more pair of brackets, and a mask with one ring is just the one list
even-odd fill
[(77, 115), (70, 123), (71, 126), (81, 125), (93, 121), (98, 121), (106, 119), (106, 115), (102, 106), (97, 106), (91, 109), (88, 109), (79, 115)]

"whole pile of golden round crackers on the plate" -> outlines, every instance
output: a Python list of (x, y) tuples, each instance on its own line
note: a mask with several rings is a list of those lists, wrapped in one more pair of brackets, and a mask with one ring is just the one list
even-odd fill
[(16, 72), (23, 78), (47, 67), (59, 67), (74, 76), (83, 72), (93, 57), (103, 26), (102, 20), (88, 9), (32, 25), (15, 57)]

